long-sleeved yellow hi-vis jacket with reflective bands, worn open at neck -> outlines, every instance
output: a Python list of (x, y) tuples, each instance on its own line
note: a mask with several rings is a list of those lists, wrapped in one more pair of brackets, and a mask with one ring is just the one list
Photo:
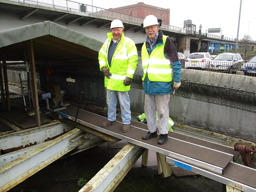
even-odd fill
[(108, 32), (107, 36), (108, 38), (98, 52), (100, 70), (102, 71), (102, 67), (106, 66), (112, 74), (109, 79), (105, 76), (105, 87), (110, 90), (128, 91), (130, 90), (130, 85), (125, 86), (123, 80), (126, 76), (130, 78), (133, 77), (138, 61), (137, 48), (134, 41), (125, 37), (122, 33), (109, 66), (107, 57), (108, 48), (112, 40), (112, 33)]

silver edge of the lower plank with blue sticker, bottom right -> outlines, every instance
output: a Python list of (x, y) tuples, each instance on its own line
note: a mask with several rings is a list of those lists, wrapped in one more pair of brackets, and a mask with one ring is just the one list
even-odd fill
[[(184, 168), (184, 169), (190, 170), (192, 172), (195, 172), (197, 174), (203, 175), (205, 177), (208, 177), (210, 179), (216, 180), (216, 181), (221, 182), (223, 184), (229, 185), (233, 188), (242, 190), (244, 192), (255, 192), (256, 191), (256, 188), (253, 188), (253, 187), (248, 186), (246, 184), (237, 182), (237, 181), (232, 180), (230, 178), (224, 177), (223, 175), (215, 174), (213, 172), (204, 170), (204, 169), (196, 167), (194, 165), (185, 163), (185, 162), (177, 160), (175, 158), (171, 158), (169, 156), (165, 157), (165, 161), (168, 162), (168, 163), (174, 164), (176, 166), (179, 166), (181, 168)], [(233, 162), (230, 162), (230, 163), (233, 163)]]

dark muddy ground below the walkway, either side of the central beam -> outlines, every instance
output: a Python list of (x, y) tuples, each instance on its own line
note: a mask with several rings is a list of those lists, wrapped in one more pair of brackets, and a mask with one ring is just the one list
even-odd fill
[[(77, 192), (82, 187), (77, 184), (80, 178), (90, 180), (109, 161), (111, 158), (109, 145), (109, 143), (104, 143), (59, 159), (9, 191)], [(132, 167), (114, 191), (222, 192), (225, 191), (225, 186), (201, 175), (176, 177), (172, 174), (164, 178), (158, 174), (157, 166), (153, 165)]]

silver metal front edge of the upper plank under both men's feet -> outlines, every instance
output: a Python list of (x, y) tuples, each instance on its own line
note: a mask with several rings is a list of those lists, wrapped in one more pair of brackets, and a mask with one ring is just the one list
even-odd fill
[[(70, 115), (65, 114), (63, 112), (58, 112), (58, 113), (59, 113), (59, 115), (65, 117), (65, 118), (68, 118), (68, 119), (71, 119), (71, 120), (75, 120), (75, 118), (73, 116), (70, 116)], [(116, 133), (116, 132), (113, 132), (113, 131), (110, 131), (110, 130), (107, 130), (107, 129), (102, 129), (99, 126), (96, 126), (94, 124), (91, 124), (89, 122), (86, 122), (86, 121), (83, 121), (83, 120), (80, 120), (80, 119), (77, 119), (76, 121), (78, 123), (80, 123), (80, 124), (85, 125), (85, 126), (94, 128), (94, 129), (96, 129), (96, 130), (98, 130), (100, 132), (104, 132), (104, 133), (109, 134), (111, 136), (114, 136), (116, 138), (120, 138), (120, 139), (125, 140), (127, 142), (131, 142), (133, 144), (142, 146), (144, 148), (148, 148), (150, 150), (159, 152), (161, 154), (165, 154), (167, 156), (171, 156), (171, 157), (179, 159), (181, 161), (186, 161), (186, 162), (191, 163), (193, 165), (200, 166), (202, 168), (205, 168), (207, 170), (210, 170), (210, 171), (213, 171), (213, 172), (216, 172), (216, 173), (219, 173), (219, 174), (222, 174), (222, 172), (223, 172), (223, 168), (222, 167), (215, 166), (213, 164), (209, 164), (207, 162), (200, 161), (200, 160), (197, 160), (197, 159), (194, 159), (194, 158), (191, 158), (191, 157), (179, 154), (179, 153), (175, 153), (175, 152), (172, 152), (172, 151), (169, 151), (169, 150), (166, 150), (166, 149), (163, 149), (163, 148), (160, 148), (160, 147), (148, 144), (148, 143), (144, 143), (144, 142), (138, 141), (136, 139), (133, 139), (131, 137), (128, 137), (128, 136), (125, 136), (125, 135), (122, 135), (122, 134), (119, 134), (119, 133)], [(136, 127), (136, 128), (139, 128), (139, 127)], [(222, 152), (222, 151), (220, 151), (220, 152)], [(224, 152), (222, 152), (222, 153), (224, 153)]]

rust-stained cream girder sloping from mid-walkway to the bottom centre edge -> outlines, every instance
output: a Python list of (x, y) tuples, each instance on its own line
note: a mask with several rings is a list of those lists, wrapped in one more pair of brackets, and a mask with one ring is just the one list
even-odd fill
[(132, 143), (126, 144), (79, 192), (113, 191), (144, 150)]

